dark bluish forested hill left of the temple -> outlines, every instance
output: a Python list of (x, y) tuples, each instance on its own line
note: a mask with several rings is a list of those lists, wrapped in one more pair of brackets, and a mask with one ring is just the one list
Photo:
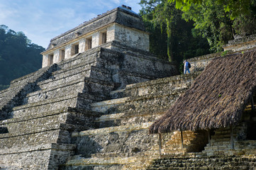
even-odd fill
[(22, 32), (16, 33), (0, 26), (0, 90), (13, 79), (35, 72), (41, 67), (40, 52), (45, 49), (28, 40)]

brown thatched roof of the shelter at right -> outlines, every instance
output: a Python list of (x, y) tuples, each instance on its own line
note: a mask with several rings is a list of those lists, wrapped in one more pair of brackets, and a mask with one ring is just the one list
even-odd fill
[(256, 89), (256, 51), (242, 53), (212, 60), (150, 133), (237, 124)]

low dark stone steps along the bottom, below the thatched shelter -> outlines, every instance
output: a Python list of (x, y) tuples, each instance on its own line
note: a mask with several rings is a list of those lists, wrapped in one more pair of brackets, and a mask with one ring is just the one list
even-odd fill
[(164, 170), (164, 169), (250, 169), (256, 168), (256, 157), (235, 157), (235, 156), (212, 156), (212, 157), (169, 157), (157, 159), (148, 166), (147, 170)]

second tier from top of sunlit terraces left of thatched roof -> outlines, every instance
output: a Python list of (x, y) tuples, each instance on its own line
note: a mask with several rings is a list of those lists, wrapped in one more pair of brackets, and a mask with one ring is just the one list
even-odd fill
[(109, 101), (92, 103), (91, 108), (93, 111), (106, 114), (126, 112), (129, 113), (130, 116), (165, 112), (184, 91), (185, 89), (179, 89), (166, 91), (166, 94), (116, 98)]

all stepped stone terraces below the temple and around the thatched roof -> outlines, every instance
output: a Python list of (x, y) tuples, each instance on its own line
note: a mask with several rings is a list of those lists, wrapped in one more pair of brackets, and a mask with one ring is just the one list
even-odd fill
[[(179, 132), (164, 134), (162, 156), (174, 158), (149, 166), (160, 157), (160, 149), (158, 136), (149, 135), (148, 127), (220, 54), (191, 59), (193, 73), (178, 76), (172, 75), (172, 64), (148, 55), (96, 47), (14, 80), (0, 92), (7, 99), (0, 112), (0, 169), (162, 169), (170, 166), (158, 166), (165, 162), (174, 162), (173, 169), (218, 165), (211, 155), (221, 150), (216, 138), (226, 137), (225, 130), (216, 130), (211, 146), (206, 146), (204, 131), (185, 131), (183, 148)], [(255, 148), (255, 142), (249, 143)], [(184, 154), (187, 157), (180, 157)], [(203, 163), (194, 164), (199, 159)], [(225, 162), (233, 159), (238, 160), (230, 157)], [(248, 164), (253, 160), (254, 156), (248, 158)]]

